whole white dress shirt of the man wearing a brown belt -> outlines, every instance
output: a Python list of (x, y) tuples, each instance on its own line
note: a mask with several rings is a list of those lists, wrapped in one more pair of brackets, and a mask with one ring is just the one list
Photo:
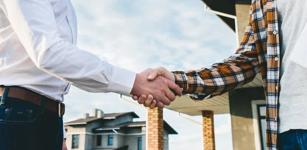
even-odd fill
[(70, 84), (129, 95), (136, 73), (80, 50), (76, 41), (70, 0), (1, 0), (0, 85), (18, 85), (60, 102)]

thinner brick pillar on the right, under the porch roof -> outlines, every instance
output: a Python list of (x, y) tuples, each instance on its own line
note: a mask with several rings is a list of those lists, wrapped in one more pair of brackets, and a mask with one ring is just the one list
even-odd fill
[(202, 111), (204, 150), (215, 150), (213, 111)]

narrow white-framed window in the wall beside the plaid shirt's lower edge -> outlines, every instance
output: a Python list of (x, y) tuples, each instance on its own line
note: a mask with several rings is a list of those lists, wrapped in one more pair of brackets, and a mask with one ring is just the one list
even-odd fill
[(257, 105), (258, 112), (258, 123), (259, 123), (259, 131), (261, 138), (261, 147), (262, 149), (266, 149), (266, 105), (258, 104)]

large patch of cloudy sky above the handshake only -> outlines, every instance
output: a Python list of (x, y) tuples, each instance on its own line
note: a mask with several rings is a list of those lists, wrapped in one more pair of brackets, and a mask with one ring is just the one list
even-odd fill
[(221, 57), (222, 49), (234, 45), (234, 33), (204, 12), (200, 1), (124, 2), (74, 1), (80, 48), (114, 65), (142, 71), (163, 63), (173, 65), (169, 69), (205, 67)]

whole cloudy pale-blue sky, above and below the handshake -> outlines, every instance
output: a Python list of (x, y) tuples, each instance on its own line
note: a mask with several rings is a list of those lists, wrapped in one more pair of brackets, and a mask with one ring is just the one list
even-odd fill
[[(141, 72), (147, 68), (188, 70), (207, 67), (235, 51), (235, 34), (200, 0), (72, 0), (78, 17), (78, 44), (113, 65)], [(131, 98), (125, 97), (132, 101)], [(134, 111), (143, 121), (146, 110), (119, 100), (114, 93), (87, 93), (72, 87), (65, 96), (64, 121), (92, 113)], [(230, 115), (214, 116), (216, 149), (232, 149)], [(202, 122), (201, 116), (190, 117)], [(203, 149), (201, 125), (164, 109), (179, 135), (170, 150)]]

